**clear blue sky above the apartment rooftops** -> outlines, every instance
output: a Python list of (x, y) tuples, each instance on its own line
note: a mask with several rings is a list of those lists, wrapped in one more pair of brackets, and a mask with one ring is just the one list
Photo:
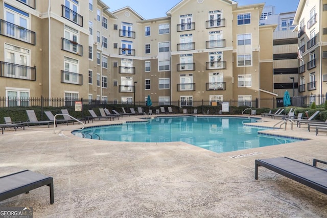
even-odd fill
[[(165, 17), (166, 12), (173, 8), (180, 0), (102, 0), (109, 6), (109, 11), (115, 11), (126, 6), (132, 8), (145, 19)], [(195, 0), (193, 0), (195, 1)], [(239, 6), (266, 3), (275, 6), (275, 13), (296, 11), (299, 0), (238, 0)]]

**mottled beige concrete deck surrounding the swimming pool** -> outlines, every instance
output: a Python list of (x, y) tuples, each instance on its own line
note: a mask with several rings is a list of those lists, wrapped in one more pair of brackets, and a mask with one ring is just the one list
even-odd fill
[[(281, 119), (263, 120), (255, 125), (272, 127)], [(263, 167), (254, 180), (255, 159), (327, 160), (326, 132), (316, 136), (306, 127), (267, 132), (312, 140), (220, 154), (183, 142), (83, 139), (48, 126), (6, 129), (0, 176), (23, 169), (51, 176), (55, 203), (43, 186), (0, 207), (33, 207), (33, 217), (327, 217), (327, 195)], [(61, 128), (67, 126), (58, 125), (57, 132)]]

